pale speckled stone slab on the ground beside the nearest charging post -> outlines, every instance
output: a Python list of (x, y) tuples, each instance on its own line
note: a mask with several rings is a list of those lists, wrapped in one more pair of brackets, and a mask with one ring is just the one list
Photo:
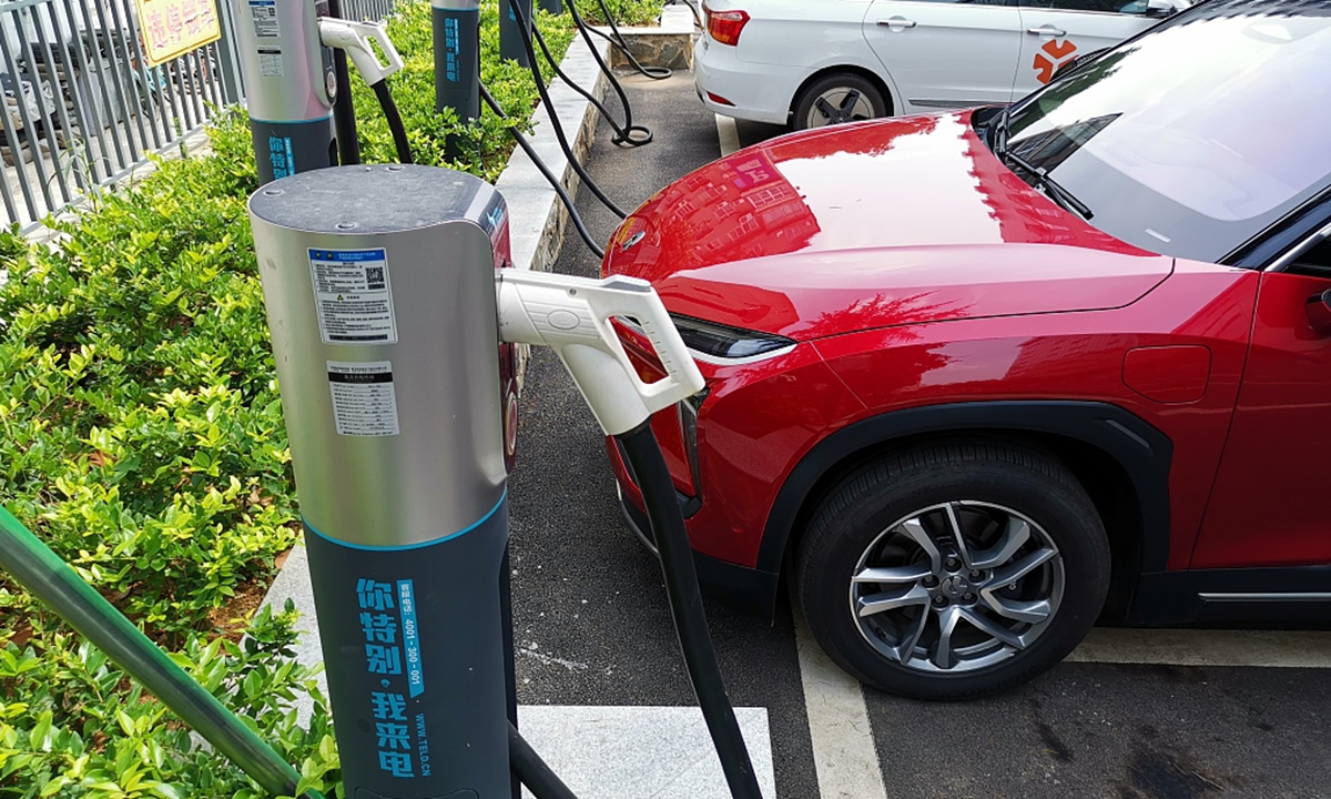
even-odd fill
[[(765, 707), (736, 707), (764, 799), (776, 799)], [(518, 728), (578, 799), (729, 799), (696, 707), (524, 704)], [(526, 790), (523, 796), (531, 796)]]

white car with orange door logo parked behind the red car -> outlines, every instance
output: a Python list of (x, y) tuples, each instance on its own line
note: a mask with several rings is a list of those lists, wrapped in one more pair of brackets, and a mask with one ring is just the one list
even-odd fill
[(1010, 103), (1191, 0), (705, 0), (712, 112), (796, 129)]

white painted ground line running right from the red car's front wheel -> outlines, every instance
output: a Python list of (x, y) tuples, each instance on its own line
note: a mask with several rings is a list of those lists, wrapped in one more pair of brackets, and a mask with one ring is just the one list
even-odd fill
[(1331, 633), (1097, 627), (1070, 663), (1331, 668)]

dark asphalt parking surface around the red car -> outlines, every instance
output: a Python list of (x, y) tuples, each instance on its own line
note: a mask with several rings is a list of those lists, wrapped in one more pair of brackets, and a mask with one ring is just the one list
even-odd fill
[[(622, 149), (602, 121), (588, 164), (624, 208), (720, 156), (723, 141), (729, 149), (780, 132), (717, 125), (688, 73), (624, 84), (635, 123), (656, 138)], [(578, 205), (592, 234), (608, 240), (618, 218), (590, 192)], [(598, 272), (571, 229), (555, 270)], [(626, 527), (600, 431), (547, 349), (532, 353), (520, 410), (510, 481), (519, 702), (693, 704), (660, 567)], [(768, 710), (781, 799), (1331, 796), (1324, 639), (1263, 638), (1256, 661), (1264, 667), (1183, 667), (1151, 663), (1173, 633), (1150, 633), (1125, 655), (1145, 665), (1070, 662), (1004, 696), (924, 704), (811, 676), (800, 649), (809, 645), (788, 601), (779, 607), (776, 619), (711, 601), (707, 610), (733, 702)], [(1223, 662), (1223, 638), (1218, 651)], [(1319, 667), (1280, 667), (1291, 662)], [(866, 724), (828, 722), (832, 706)], [(824, 731), (813, 735), (811, 724)], [(815, 746), (815, 738), (829, 740), (829, 727), (833, 738), (865, 746)], [(848, 758), (876, 771), (873, 779), (839, 778), (855, 774)]]

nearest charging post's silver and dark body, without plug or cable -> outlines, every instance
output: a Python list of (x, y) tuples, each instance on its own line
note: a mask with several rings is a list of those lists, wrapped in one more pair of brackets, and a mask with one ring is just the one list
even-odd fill
[(511, 799), (503, 198), (341, 166), (250, 200), (349, 799)]

